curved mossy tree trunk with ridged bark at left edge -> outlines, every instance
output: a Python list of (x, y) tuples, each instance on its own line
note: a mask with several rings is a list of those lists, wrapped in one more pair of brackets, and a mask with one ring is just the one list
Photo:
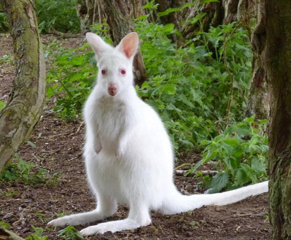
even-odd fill
[(46, 70), (31, 0), (0, 0), (14, 42), (16, 79), (0, 112), (0, 172), (30, 136), (45, 104)]

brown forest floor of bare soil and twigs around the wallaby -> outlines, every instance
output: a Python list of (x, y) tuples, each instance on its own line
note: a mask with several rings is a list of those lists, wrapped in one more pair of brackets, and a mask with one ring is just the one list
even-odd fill
[[(47, 45), (53, 36), (43, 36)], [(77, 48), (83, 39), (59, 39), (65, 48)], [(8, 55), (5, 57), (5, 55)], [(0, 100), (7, 101), (14, 79), (12, 39), (0, 35)], [(10, 229), (21, 237), (33, 232), (32, 225), (45, 228), (46, 224), (66, 214), (84, 212), (95, 208), (95, 199), (88, 187), (82, 146), (84, 126), (81, 120), (66, 122), (55, 116), (53, 100), (48, 101), (43, 116), (30, 140), (36, 145), (25, 143), (18, 154), (22, 160), (32, 162), (36, 169), (44, 168), (52, 178), (47, 183), (36, 185), (22, 182), (0, 182), (0, 221), (9, 223)], [(196, 154), (180, 154), (177, 165), (199, 160)], [(178, 189), (185, 194), (202, 193), (201, 178), (175, 176)], [(140, 239), (140, 240), (262, 240), (270, 237), (270, 224), (265, 213), (268, 211), (268, 195), (250, 197), (228, 206), (207, 206), (176, 215), (152, 212), (152, 224), (136, 230), (105, 233), (86, 237), (88, 240)], [(127, 216), (128, 209), (120, 206), (118, 213), (108, 219), (118, 220)], [(97, 223), (94, 223), (97, 224)], [(81, 230), (89, 224), (76, 226)], [(62, 228), (46, 228), (43, 236), (57, 240)]]

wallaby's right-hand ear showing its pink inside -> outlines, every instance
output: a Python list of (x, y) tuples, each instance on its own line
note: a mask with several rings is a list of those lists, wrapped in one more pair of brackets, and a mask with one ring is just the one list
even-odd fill
[(130, 32), (127, 34), (118, 44), (118, 48), (125, 54), (127, 58), (133, 58), (138, 47), (138, 35), (136, 32)]

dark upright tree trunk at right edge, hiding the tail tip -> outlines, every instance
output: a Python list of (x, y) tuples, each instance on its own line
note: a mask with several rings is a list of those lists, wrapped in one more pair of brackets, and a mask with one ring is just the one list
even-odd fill
[(291, 239), (291, 1), (265, 0), (262, 52), (271, 90), (269, 214), (273, 240)]

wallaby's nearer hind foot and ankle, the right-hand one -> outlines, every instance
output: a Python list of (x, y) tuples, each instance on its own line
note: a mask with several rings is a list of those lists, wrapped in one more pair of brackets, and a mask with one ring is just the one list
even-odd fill
[(86, 227), (81, 230), (81, 234), (82, 236), (89, 236), (96, 233), (105, 233), (107, 231), (117, 232), (130, 230), (140, 226), (146, 226), (150, 223), (151, 220), (148, 207), (143, 204), (137, 204), (130, 206), (128, 218)]

